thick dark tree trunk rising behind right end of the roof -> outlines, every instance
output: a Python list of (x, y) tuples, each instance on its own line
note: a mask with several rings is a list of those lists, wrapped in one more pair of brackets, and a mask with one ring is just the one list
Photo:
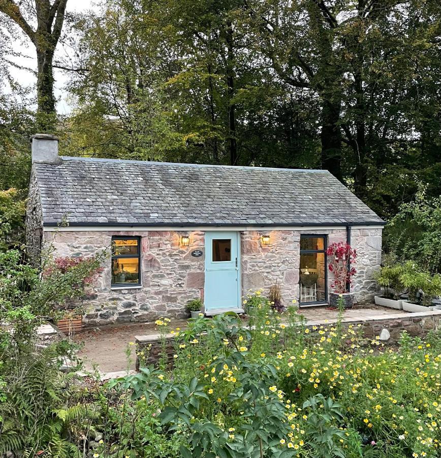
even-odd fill
[(341, 102), (322, 100), (322, 168), (342, 181), (341, 173), (341, 132), (340, 121)]

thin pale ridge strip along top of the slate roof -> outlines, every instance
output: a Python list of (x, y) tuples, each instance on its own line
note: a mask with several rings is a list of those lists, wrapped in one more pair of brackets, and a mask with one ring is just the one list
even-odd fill
[(313, 172), (330, 174), (329, 170), (319, 168), (283, 168), (283, 167), (261, 167), (251, 165), (219, 165), (219, 164), (190, 164), (184, 162), (160, 162), (160, 161), (139, 161), (133, 159), (109, 159), (99, 157), (81, 157), (81, 156), (60, 156), (63, 161), (84, 161), (84, 162), (110, 162), (114, 164), (139, 164), (139, 165), (174, 165), (178, 167), (215, 167), (215, 168), (236, 168), (236, 169), (249, 169), (249, 170), (277, 170), (277, 171), (290, 171), (290, 172)]

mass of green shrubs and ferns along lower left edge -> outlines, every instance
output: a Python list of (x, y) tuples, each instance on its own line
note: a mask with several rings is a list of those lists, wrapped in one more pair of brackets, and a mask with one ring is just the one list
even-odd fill
[(74, 405), (78, 385), (60, 374), (61, 362), (73, 359), (73, 346), (37, 347), (36, 328), (56, 317), (64, 301), (82, 296), (83, 282), (104, 256), (40, 277), (20, 251), (0, 252), (0, 456), (84, 456), (100, 414), (84, 398)]

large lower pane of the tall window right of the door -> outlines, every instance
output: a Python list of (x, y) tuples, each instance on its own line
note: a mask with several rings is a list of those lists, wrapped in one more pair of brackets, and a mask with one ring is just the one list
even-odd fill
[(325, 253), (300, 253), (300, 303), (326, 300)]

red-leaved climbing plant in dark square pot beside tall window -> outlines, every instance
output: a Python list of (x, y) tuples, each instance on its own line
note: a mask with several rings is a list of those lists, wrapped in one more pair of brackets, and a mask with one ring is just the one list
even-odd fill
[(349, 243), (338, 242), (329, 245), (326, 250), (329, 264), (328, 269), (334, 274), (331, 284), (333, 291), (330, 294), (329, 305), (337, 308), (338, 299), (343, 299), (344, 308), (352, 308), (354, 305), (354, 295), (348, 291), (352, 277), (357, 272), (354, 267), (350, 267), (357, 259), (357, 252)]

